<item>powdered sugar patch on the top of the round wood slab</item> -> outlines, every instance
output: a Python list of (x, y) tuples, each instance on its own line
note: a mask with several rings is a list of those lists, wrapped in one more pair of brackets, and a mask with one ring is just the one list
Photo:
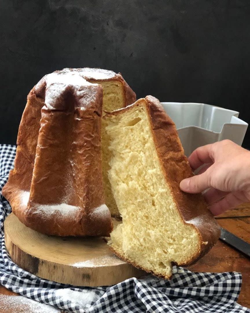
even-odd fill
[(119, 259), (115, 254), (111, 255), (104, 255), (102, 257), (96, 257), (93, 259), (89, 259), (86, 261), (79, 261), (72, 266), (81, 268), (81, 267), (100, 267), (100, 266), (113, 266), (113, 265), (120, 265), (125, 264), (125, 262)]

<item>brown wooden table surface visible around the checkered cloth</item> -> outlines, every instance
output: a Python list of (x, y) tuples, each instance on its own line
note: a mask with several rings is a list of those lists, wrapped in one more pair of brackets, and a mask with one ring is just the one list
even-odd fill
[[(243, 204), (218, 216), (217, 221), (223, 228), (250, 243), (250, 203)], [(238, 303), (250, 308), (250, 258), (247, 258), (244, 254), (218, 240), (217, 244), (207, 255), (196, 264), (189, 266), (188, 269), (198, 272), (241, 272), (242, 289)], [(1, 295), (17, 294), (0, 286), (0, 307)], [(8, 312), (21, 312), (21, 304), (20, 310), (16, 309)], [(5, 312), (1, 311), (1, 313)]]

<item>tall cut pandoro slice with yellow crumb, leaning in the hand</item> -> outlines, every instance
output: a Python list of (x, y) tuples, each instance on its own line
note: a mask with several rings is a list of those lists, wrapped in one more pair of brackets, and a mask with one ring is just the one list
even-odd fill
[(173, 264), (191, 264), (211, 249), (218, 224), (201, 194), (179, 188), (192, 169), (156, 98), (139, 99), (104, 118), (108, 178), (122, 216), (108, 244), (121, 259), (168, 279)]

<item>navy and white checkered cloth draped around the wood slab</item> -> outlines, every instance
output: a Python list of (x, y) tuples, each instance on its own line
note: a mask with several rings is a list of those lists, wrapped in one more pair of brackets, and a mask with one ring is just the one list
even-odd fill
[(2, 187), (13, 168), (15, 146), (0, 145), (0, 284), (27, 298), (68, 312), (249, 312), (236, 303), (241, 274), (192, 273), (173, 268), (173, 279), (148, 275), (114, 286), (78, 288), (41, 279), (12, 262), (5, 247), (3, 222), (11, 207)]

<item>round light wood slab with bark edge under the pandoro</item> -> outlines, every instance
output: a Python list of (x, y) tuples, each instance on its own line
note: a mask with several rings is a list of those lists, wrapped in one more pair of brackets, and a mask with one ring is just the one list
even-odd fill
[(38, 233), (11, 213), (5, 244), (18, 266), (47, 280), (75, 286), (117, 284), (146, 273), (116, 257), (103, 237), (55, 237)]

